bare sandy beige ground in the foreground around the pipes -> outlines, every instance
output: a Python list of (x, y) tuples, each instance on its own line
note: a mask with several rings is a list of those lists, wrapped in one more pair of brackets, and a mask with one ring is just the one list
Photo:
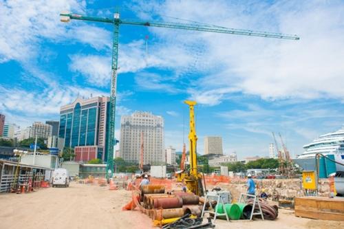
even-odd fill
[[(0, 195), (0, 228), (152, 228), (152, 221), (138, 210), (122, 211), (131, 191), (109, 186), (76, 184), (69, 188), (41, 188), (34, 193)], [(303, 219), (292, 210), (280, 210), (276, 221), (217, 220), (224, 228), (344, 228), (341, 221)]]

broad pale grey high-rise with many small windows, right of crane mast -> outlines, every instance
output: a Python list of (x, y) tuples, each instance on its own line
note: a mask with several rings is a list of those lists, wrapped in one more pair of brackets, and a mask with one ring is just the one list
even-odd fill
[(120, 120), (120, 156), (126, 162), (140, 161), (140, 137), (143, 132), (143, 163), (165, 162), (164, 119), (150, 112), (136, 111)]

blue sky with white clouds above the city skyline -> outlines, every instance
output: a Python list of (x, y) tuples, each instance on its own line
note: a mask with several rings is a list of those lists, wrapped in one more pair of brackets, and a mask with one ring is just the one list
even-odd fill
[(165, 145), (182, 149), (183, 129), (185, 140), (189, 130), (185, 99), (199, 103), (201, 153), (204, 136), (220, 135), (224, 153), (266, 156), (275, 131), (295, 155), (317, 135), (341, 128), (343, 1), (2, 1), (0, 112), (8, 122), (25, 127), (58, 120), (59, 107), (76, 96), (109, 94), (111, 25), (61, 23), (58, 14), (112, 17), (115, 6), (122, 19), (197, 21), (301, 37), (122, 25), (117, 138), (121, 115), (152, 111), (164, 117)]

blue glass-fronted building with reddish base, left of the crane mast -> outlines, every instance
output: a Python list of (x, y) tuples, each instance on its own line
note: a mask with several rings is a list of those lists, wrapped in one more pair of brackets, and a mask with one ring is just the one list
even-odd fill
[(64, 138), (65, 147), (74, 148), (76, 161), (107, 160), (109, 100), (105, 96), (76, 98), (61, 107), (58, 137)]

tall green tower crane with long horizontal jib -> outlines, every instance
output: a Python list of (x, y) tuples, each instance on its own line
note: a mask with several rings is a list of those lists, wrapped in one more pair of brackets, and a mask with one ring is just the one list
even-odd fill
[(116, 91), (117, 91), (117, 69), (118, 69), (118, 41), (120, 25), (139, 25), (147, 27), (171, 28), (178, 30), (194, 30), (201, 32), (216, 32), (222, 34), (235, 34), (244, 36), (260, 36), (265, 38), (299, 40), (299, 36), (291, 34), (280, 34), (273, 32), (260, 32), (254, 30), (238, 30), (233, 28), (225, 28), (216, 25), (204, 25), (202, 23), (173, 23), (164, 21), (133, 21), (127, 19), (120, 19), (119, 12), (114, 14), (113, 18), (107, 17), (89, 17), (81, 14), (74, 14), (71, 12), (61, 12), (62, 22), (69, 22), (71, 20), (94, 21), (100, 23), (109, 23), (114, 26), (114, 38), (112, 41), (112, 64), (111, 64), (111, 92), (109, 105), (109, 135), (107, 135), (107, 145), (105, 151), (107, 153), (107, 178), (114, 174), (114, 132), (115, 132), (115, 106), (116, 106)]

